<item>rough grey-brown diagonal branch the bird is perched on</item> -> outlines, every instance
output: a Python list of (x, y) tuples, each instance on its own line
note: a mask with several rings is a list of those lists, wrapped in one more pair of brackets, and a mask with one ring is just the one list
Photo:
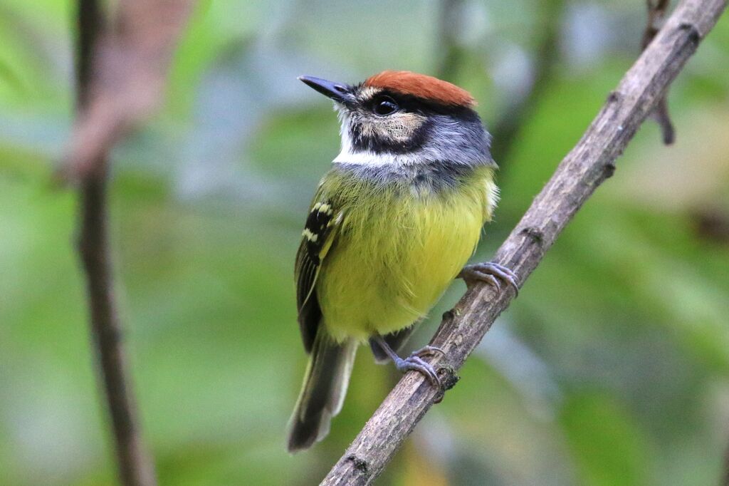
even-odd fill
[[(577, 210), (615, 171), (615, 159), (725, 7), (726, 0), (685, 0), (677, 7), (610, 93), (580, 142), (496, 252), (494, 261), (514, 270), (522, 282), (529, 277)], [(455, 381), (453, 371), (463, 365), (513, 296), (513, 290), (497, 293), (491, 286), (477, 285), (445, 313), (431, 341), (446, 352), (446, 358), (433, 360), (436, 365), (439, 360), (448, 360), (448, 366), (440, 363), (439, 373), (445, 374), (445, 379)], [(439, 395), (421, 374), (405, 374), (321, 484), (373, 482)]]

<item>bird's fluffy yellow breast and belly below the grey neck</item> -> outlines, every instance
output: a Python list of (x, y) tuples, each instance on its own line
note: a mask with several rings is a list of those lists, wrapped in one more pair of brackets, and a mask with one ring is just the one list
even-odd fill
[[(322, 262), (316, 293), (322, 323), (338, 341), (365, 340), (420, 320), (459, 274), (491, 217), (488, 177), (452, 193), (356, 201)], [(397, 198), (398, 196), (383, 196)]]

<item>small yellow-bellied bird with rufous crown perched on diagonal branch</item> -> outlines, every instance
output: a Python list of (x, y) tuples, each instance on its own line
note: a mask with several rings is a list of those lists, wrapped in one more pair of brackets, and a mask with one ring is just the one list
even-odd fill
[(415, 324), (456, 277), (518, 289), (504, 266), (464, 266), (499, 199), (491, 136), (466, 90), (406, 71), (357, 85), (299, 80), (334, 101), (342, 143), (296, 257), (298, 321), (310, 358), (289, 452), (329, 433), (359, 344), (369, 342), (378, 362), (392, 360), (440, 387), (424, 358), (442, 350), (397, 355)]

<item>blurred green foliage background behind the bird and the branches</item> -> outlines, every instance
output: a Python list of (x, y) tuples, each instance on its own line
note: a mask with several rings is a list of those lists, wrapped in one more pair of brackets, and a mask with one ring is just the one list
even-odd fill
[[(0, 483), (112, 485), (74, 252), (51, 176), (73, 120), (74, 4), (0, 0)], [(296, 80), (383, 69), (472, 91), (507, 236), (640, 50), (642, 1), (201, 1), (168, 96), (113, 152), (117, 288), (162, 485), (311, 485), (395, 380), (362, 348), (331, 435), (289, 456), (305, 367), (293, 262), (338, 153)], [(382, 485), (714, 485), (729, 444), (729, 19), (426, 415)], [(456, 282), (411, 339), (464, 292)]]

